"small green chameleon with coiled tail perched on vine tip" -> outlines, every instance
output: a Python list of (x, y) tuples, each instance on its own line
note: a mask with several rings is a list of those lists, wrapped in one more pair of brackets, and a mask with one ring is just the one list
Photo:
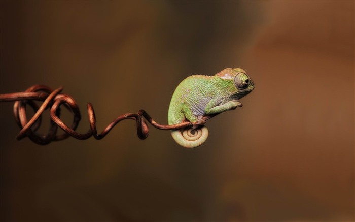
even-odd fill
[(184, 79), (172, 95), (168, 123), (189, 121), (192, 127), (171, 130), (172, 138), (186, 148), (200, 146), (208, 137), (206, 120), (242, 106), (239, 99), (253, 89), (254, 81), (239, 68), (227, 68), (214, 76), (194, 75)]

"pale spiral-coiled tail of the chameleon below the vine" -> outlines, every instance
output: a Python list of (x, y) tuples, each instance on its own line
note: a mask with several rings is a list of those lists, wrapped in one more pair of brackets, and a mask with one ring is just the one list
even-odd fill
[(183, 130), (172, 130), (171, 136), (179, 145), (186, 148), (194, 148), (202, 145), (207, 140), (208, 129), (204, 125), (197, 129), (187, 127)]

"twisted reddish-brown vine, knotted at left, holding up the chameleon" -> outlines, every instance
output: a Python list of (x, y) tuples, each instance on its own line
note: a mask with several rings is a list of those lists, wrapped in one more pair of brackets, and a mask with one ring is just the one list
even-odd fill
[[(143, 140), (149, 135), (148, 125), (143, 117), (155, 128), (160, 130), (176, 130), (192, 125), (188, 121), (175, 125), (161, 125), (155, 122), (146, 111), (139, 110), (137, 113), (126, 113), (117, 117), (108, 126), (106, 126), (100, 134), (97, 134), (95, 112), (92, 104), (88, 103), (87, 110), (90, 129), (87, 133), (81, 134), (76, 132), (79, 121), (81, 120), (79, 107), (71, 96), (62, 94), (62, 90), (63, 87), (52, 90), (48, 86), (34, 85), (24, 92), (0, 94), (0, 102), (16, 101), (14, 104), (14, 115), (17, 124), (21, 128), (20, 133), (17, 135), (18, 140), (27, 136), (33, 142), (41, 145), (48, 144), (52, 141), (63, 140), (69, 136), (79, 140), (86, 140), (91, 136), (94, 136), (95, 139), (99, 140), (105, 137), (118, 122), (124, 119), (133, 119), (136, 121), (138, 137)], [(34, 101), (43, 101), (43, 103), (39, 107), (36, 103), (34, 103)], [(29, 121), (26, 117), (27, 105), (29, 105), (35, 112)], [(74, 115), (73, 122), (70, 127), (60, 119), (61, 105), (66, 107)], [(41, 115), (46, 109), (50, 109), (50, 129), (47, 135), (38, 134), (36, 131), (40, 128), (42, 122)], [(64, 134), (57, 135), (58, 126), (64, 130)]]

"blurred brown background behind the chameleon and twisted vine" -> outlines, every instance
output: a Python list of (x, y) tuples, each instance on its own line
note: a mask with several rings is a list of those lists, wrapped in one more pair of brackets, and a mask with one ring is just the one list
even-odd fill
[(13, 103), (1, 103), (2, 221), (354, 220), (353, 1), (1, 1), (0, 10), (0, 93), (64, 86), (81, 107), (80, 132), (87, 102), (99, 131), (139, 109), (166, 124), (189, 75), (240, 67), (256, 83), (242, 108), (207, 122), (196, 149), (152, 127), (141, 141), (130, 120), (100, 141), (17, 141)]

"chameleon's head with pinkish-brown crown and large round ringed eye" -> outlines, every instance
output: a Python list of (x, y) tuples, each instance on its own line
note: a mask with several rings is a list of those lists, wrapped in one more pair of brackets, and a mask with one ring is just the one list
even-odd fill
[(233, 98), (240, 99), (250, 93), (254, 88), (254, 81), (240, 68), (227, 68), (217, 73), (216, 76), (234, 82)]

